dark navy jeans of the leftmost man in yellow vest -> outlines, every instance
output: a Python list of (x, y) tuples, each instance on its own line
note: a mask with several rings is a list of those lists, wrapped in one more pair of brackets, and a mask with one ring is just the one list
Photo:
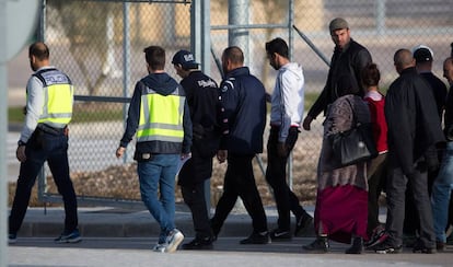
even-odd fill
[(62, 132), (51, 135), (36, 129), (26, 144), (25, 154), (9, 218), (9, 233), (15, 234), (21, 228), (36, 176), (46, 161), (65, 202), (65, 232), (72, 232), (78, 227), (78, 214), (76, 191), (69, 176), (68, 137)]

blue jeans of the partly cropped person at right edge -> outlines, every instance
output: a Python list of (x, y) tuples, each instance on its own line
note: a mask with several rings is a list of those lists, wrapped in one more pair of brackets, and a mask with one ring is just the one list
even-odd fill
[(445, 228), (449, 221), (450, 195), (453, 188), (453, 142), (448, 142), (445, 153), (434, 179), (431, 193), (432, 217), (435, 240), (446, 242)]

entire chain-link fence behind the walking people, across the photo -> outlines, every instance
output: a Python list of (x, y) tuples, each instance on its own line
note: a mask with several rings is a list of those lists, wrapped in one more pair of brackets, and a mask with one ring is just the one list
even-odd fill
[[(450, 55), (453, 40), (453, 0), (206, 2), (210, 4), (210, 14), (202, 15), (210, 18), (212, 54), (210, 66), (202, 66), (204, 70), (221, 81), (216, 60), (236, 35), (245, 42), (241, 46), (246, 65), (271, 92), (276, 71), (266, 60), (264, 44), (280, 36), (290, 43), (292, 60), (304, 69), (305, 111), (326, 81), (326, 61), (334, 49), (328, 23), (336, 16), (349, 22), (352, 38), (372, 54), (382, 72), (384, 92), (397, 77), (393, 66), (396, 49), (428, 45), (434, 51), (433, 72), (442, 77), (442, 61)], [(69, 149), (71, 176), (76, 185), (84, 185), (77, 193), (80, 197), (137, 200), (138, 183), (132, 187), (126, 185), (137, 181), (131, 160), (133, 144), (129, 146), (125, 160), (117, 160), (114, 152), (124, 130), (127, 97), (136, 81), (147, 74), (142, 50), (149, 45), (163, 46), (169, 62), (166, 71), (178, 79), (171, 58), (178, 49), (190, 49), (190, 15), (201, 14), (190, 14), (189, 1), (47, 0), (45, 3), (43, 36), (50, 46), (51, 61), (71, 77), (78, 95)], [(293, 152), (292, 184), (303, 201), (315, 196), (322, 120), (320, 116), (311, 131), (300, 135)], [(266, 163), (265, 153), (263, 162)], [(223, 169), (214, 164), (213, 176), (221, 176)], [(257, 171), (262, 197), (271, 198), (258, 167)], [(219, 182), (212, 187), (216, 183)], [(46, 196), (56, 193), (51, 185), (46, 188)]]

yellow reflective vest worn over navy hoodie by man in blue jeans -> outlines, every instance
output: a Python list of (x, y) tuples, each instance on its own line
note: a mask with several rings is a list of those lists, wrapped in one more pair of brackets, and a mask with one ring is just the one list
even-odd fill
[(137, 141), (182, 142), (185, 96), (178, 90), (166, 96), (150, 91), (141, 96)]

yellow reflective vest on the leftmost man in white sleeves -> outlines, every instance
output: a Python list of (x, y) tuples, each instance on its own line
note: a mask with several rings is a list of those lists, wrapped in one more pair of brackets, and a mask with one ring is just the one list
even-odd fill
[(73, 88), (69, 78), (59, 70), (43, 70), (34, 74), (44, 84), (44, 104), (38, 123), (63, 128), (71, 121)]

